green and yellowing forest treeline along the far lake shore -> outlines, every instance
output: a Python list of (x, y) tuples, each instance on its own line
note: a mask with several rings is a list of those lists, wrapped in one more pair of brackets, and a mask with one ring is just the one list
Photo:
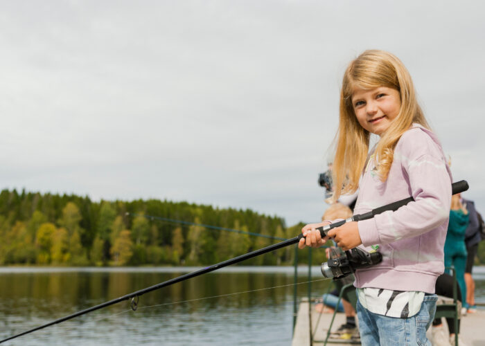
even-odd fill
[[(202, 226), (170, 224), (140, 215), (280, 238), (294, 237), (301, 229), (301, 225), (285, 228), (283, 219), (252, 210), (156, 199), (98, 203), (73, 194), (3, 190), (0, 265), (198, 266), (222, 262), (277, 242)], [(294, 247), (289, 246), (243, 264), (292, 264), (293, 258)], [(301, 252), (301, 259), (306, 261), (306, 252)], [(319, 262), (315, 260), (315, 264)]]

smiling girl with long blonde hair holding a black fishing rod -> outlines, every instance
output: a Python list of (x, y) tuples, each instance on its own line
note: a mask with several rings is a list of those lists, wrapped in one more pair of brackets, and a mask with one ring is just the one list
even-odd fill
[[(370, 134), (380, 136), (369, 153)], [(365, 51), (346, 69), (333, 163), (333, 199), (359, 189), (355, 214), (405, 199), (413, 202), (328, 233), (344, 250), (378, 248), (382, 262), (355, 272), (362, 345), (431, 345), (434, 284), (443, 273), (452, 177), (439, 140), (416, 101), (400, 60)], [(302, 228), (299, 248), (321, 246), (315, 228)], [(372, 247), (372, 248), (371, 248)]]

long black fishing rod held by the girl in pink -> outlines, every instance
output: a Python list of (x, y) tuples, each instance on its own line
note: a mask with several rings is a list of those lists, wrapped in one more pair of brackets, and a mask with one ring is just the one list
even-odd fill
[[(452, 183), (452, 194), (457, 194), (457, 193), (460, 193), (460, 192), (464, 192), (466, 190), (468, 190), (468, 183), (466, 181), (462, 180), (462, 181), (457, 181), (456, 183)], [(346, 223), (346, 221), (360, 221), (360, 220), (371, 219), (372, 217), (380, 214), (381, 212), (385, 212), (385, 211), (388, 211), (388, 210), (396, 211), (396, 210), (398, 210), (398, 208), (405, 206), (407, 203), (409, 203), (411, 201), (414, 201), (414, 199), (412, 197), (409, 197), (407, 199), (402, 199), (400, 201), (387, 204), (386, 206), (382, 206), (380, 208), (376, 208), (374, 210), (371, 210), (370, 212), (366, 212), (366, 213), (360, 214), (360, 215), (354, 215), (353, 217), (351, 217), (349, 219), (346, 219), (346, 220), (343, 220), (343, 221), (340, 221), (340, 222), (336, 222), (335, 224), (327, 225), (327, 226), (324, 226), (324, 227), (319, 227), (319, 228), (317, 228), (317, 230), (320, 231), (321, 237), (325, 237), (329, 230), (331, 230), (332, 228), (335, 228), (335, 227), (342, 226), (343, 224)], [(84, 315), (85, 313), (89, 313), (91, 311), (103, 309), (104, 307), (109, 307), (110, 305), (116, 304), (118, 302), (123, 302), (123, 300), (131, 299), (132, 300), (131, 301), (131, 308), (132, 308), (133, 311), (135, 311), (136, 307), (138, 307), (138, 299), (139, 299), (140, 295), (143, 295), (143, 294), (151, 292), (151, 291), (155, 291), (157, 289), (161, 289), (161, 288), (166, 287), (166, 286), (170, 286), (171, 284), (176, 284), (177, 282), (182, 282), (184, 280), (191, 279), (192, 277), (196, 277), (196, 276), (199, 276), (199, 275), (202, 275), (202, 274), (210, 273), (211, 271), (216, 271), (220, 268), (224, 268), (224, 266), (230, 266), (231, 264), (236, 264), (238, 262), (243, 262), (245, 260), (249, 260), (249, 258), (253, 258), (253, 257), (259, 256), (259, 255), (263, 255), (265, 253), (269, 253), (270, 251), (275, 251), (275, 250), (278, 250), (279, 248), (284, 248), (285, 246), (297, 244), (300, 241), (301, 238), (303, 238), (302, 233), (300, 233), (297, 237), (285, 240), (284, 242), (273, 244), (273, 245), (267, 246), (265, 248), (261, 248), (261, 249), (256, 250), (256, 251), (252, 251), (251, 253), (246, 253), (245, 255), (240, 255), (238, 257), (231, 258), (230, 260), (220, 262), (218, 264), (213, 264), (212, 266), (208, 266), (208, 267), (200, 269), (198, 271), (193, 271), (192, 273), (187, 273), (186, 275), (175, 277), (171, 280), (161, 282), (160, 284), (156, 284), (154, 286), (150, 286), (150, 287), (147, 287), (145, 289), (141, 289), (139, 291), (129, 293), (127, 295), (123, 295), (123, 297), (119, 297), (119, 298), (116, 298), (114, 300), (109, 300), (108, 302), (98, 304), (94, 307), (90, 307), (88, 309), (78, 311), (78, 312), (73, 313), (69, 316), (65, 316), (63, 318), (59, 318), (58, 320), (48, 322), (45, 325), (41, 325), (39, 327), (35, 327), (33, 329), (29, 329), (29, 330), (24, 331), (22, 333), (19, 333), (19, 334), (16, 334), (14, 336), (10, 336), (6, 339), (0, 340), (0, 343), (4, 343), (5, 341), (12, 340), (14, 338), (18, 338), (19, 336), (23, 336), (23, 335), (32, 333), (33, 331), (37, 331), (39, 329), (44, 329), (44, 328), (49, 327), (51, 325), (56, 325), (60, 322), (71, 320), (71, 318), (75, 318), (75, 317)]]

